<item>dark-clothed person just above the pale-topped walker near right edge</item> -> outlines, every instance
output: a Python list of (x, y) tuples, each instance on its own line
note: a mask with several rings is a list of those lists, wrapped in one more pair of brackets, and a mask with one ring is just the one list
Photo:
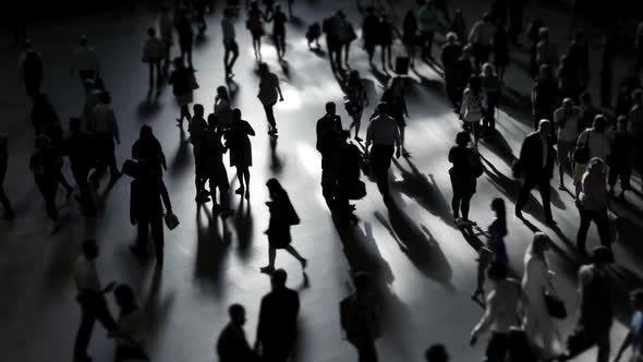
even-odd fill
[(617, 129), (611, 140), (611, 152), (609, 154), (609, 195), (614, 195), (616, 181), (620, 179), (620, 201), (624, 200), (626, 191), (630, 190), (630, 178), (632, 177), (632, 164), (634, 161), (635, 140), (628, 132), (628, 118), (620, 116), (617, 120)]

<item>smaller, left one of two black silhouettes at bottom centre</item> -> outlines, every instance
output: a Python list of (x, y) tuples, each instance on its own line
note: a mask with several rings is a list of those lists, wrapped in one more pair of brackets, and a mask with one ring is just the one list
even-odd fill
[(250, 347), (243, 330), (245, 309), (241, 304), (232, 304), (228, 309), (228, 315), (230, 322), (217, 341), (219, 362), (258, 362), (259, 357)]

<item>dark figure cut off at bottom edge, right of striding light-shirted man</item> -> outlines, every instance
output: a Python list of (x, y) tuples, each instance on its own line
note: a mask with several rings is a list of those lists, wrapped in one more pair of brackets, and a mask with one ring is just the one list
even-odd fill
[(119, 285), (113, 291), (119, 306), (116, 362), (145, 362), (149, 357), (143, 348), (145, 316), (136, 302), (134, 290), (129, 285)]

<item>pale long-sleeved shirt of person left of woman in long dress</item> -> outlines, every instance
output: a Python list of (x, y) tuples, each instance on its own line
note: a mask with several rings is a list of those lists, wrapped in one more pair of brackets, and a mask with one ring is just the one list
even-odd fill
[(497, 282), (487, 297), (485, 314), (473, 328), (473, 335), (490, 329), (495, 333), (508, 333), (522, 321), (522, 309), (527, 304), (521, 285), (513, 279)]

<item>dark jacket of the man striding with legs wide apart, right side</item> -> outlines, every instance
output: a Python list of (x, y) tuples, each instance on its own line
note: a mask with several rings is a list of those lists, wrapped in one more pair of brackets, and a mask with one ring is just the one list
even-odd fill
[(554, 176), (554, 162), (556, 160), (556, 150), (554, 149), (554, 142), (553, 138), (549, 137), (546, 142), (547, 144), (547, 164), (543, 169), (543, 144), (541, 141), (541, 133), (532, 132), (530, 133), (524, 142), (522, 143), (522, 148), (520, 149), (520, 158), (519, 162), (521, 168), (524, 172), (525, 178), (537, 178), (541, 177), (543, 172), (544, 176), (547, 178), (551, 178)]

